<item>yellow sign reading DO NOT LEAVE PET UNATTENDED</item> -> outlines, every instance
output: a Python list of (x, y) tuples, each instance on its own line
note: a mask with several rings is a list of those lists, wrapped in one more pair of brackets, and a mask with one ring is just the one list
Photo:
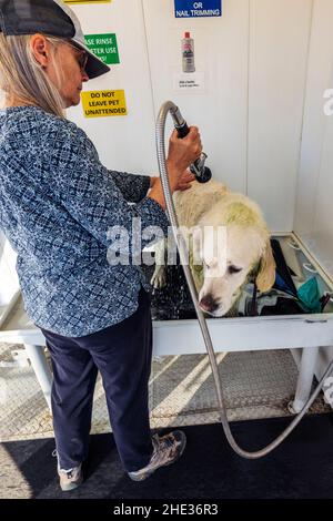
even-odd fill
[(127, 115), (124, 91), (89, 91), (82, 92), (82, 104), (85, 118), (105, 118)]

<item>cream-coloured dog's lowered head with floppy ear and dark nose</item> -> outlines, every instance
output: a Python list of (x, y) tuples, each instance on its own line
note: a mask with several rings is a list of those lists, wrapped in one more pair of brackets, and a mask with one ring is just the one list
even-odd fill
[(232, 309), (251, 277), (260, 292), (268, 292), (274, 284), (270, 234), (255, 210), (254, 206), (254, 211), (245, 212), (239, 204), (233, 205), (222, 224), (216, 223), (212, 212), (192, 232), (190, 265), (199, 304), (213, 317)]

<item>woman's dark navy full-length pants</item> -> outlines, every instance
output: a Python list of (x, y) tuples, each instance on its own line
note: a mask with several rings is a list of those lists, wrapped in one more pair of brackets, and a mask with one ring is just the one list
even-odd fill
[(145, 467), (152, 454), (148, 382), (152, 356), (150, 296), (139, 308), (101, 331), (69, 338), (42, 329), (53, 367), (52, 413), (59, 464), (70, 469), (88, 456), (98, 369), (110, 422), (124, 469)]

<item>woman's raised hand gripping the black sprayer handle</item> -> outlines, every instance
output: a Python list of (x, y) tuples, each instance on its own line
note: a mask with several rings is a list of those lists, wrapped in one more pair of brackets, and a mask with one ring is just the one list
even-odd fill
[(180, 139), (174, 130), (169, 142), (168, 173), (172, 191), (176, 190), (184, 171), (194, 163), (202, 152), (201, 139), (196, 126), (190, 126), (189, 134)]

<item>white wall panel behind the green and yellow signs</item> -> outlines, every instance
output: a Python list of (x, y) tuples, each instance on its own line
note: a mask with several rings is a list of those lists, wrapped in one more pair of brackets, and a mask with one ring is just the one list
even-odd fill
[(120, 64), (91, 80), (85, 91), (124, 89), (128, 115), (85, 119), (82, 106), (68, 111), (95, 144), (109, 168), (152, 173), (155, 168), (154, 115), (141, 0), (74, 6), (84, 34), (115, 33)]

